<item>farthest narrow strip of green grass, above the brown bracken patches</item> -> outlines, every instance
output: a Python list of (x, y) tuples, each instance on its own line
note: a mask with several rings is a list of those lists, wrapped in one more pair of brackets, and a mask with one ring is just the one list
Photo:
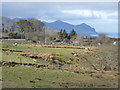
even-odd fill
[(3, 43), (3, 48), (22, 50), (22, 51), (33, 51), (33, 52), (43, 52), (43, 53), (58, 53), (64, 55), (65, 57), (73, 57), (71, 54), (72, 51), (82, 51), (80, 49), (68, 49), (68, 48), (47, 48), (47, 47), (39, 47), (39, 46), (26, 46), (26, 45), (18, 45), (14, 46), (9, 43)]

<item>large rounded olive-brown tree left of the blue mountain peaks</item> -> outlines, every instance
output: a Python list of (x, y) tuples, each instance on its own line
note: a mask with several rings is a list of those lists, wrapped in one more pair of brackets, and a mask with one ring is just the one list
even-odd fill
[(17, 22), (19, 31), (25, 34), (25, 38), (31, 40), (34, 36), (38, 41), (45, 41), (44, 24), (36, 19), (23, 20)]

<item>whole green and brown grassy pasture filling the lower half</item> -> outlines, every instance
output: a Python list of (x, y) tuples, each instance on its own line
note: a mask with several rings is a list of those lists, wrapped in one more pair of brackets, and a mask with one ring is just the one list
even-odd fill
[[(13, 45), (3, 42), (3, 49), (21, 50), (23, 52), (58, 54), (55, 61), (62, 63), (63, 70), (34, 68), (29, 66), (3, 67), (3, 88), (117, 88), (117, 47), (99, 46), (88, 53), (84, 49), (70, 48), (47, 48), (40, 46)], [(50, 63), (44, 59), (21, 56), (22, 52), (2, 51), (2, 60), (9, 62), (37, 63), (41, 65), (57, 66), (58, 63)], [(83, 53), (73, 56), (72, 52)], [(69, 62), (69, 63), (68, 63)], [(108, 64), (109, 71), (101, 70), (102, 66)], [(94, 70), (93, 65), (98, 69)], [(84, 73), (75, 73), (73, 69), (79, 70), (76, 66), (82, 67)], [(70, 69), (70, 70), (66, 70)], [(73, 69), (71, 69), (73, 68)]]

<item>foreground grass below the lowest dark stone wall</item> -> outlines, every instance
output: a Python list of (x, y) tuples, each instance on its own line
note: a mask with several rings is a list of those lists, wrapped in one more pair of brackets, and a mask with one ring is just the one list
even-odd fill
[(117, 78), (31, 67), (3, 67), (4, 88), (116, 88)]

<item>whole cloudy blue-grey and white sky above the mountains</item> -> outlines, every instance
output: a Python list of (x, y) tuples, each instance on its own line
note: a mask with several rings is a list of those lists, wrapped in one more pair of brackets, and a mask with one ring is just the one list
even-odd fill
[(117, 2), (2, 2), (2, 16), (86, 23), (97, 32), (118, 32)]

